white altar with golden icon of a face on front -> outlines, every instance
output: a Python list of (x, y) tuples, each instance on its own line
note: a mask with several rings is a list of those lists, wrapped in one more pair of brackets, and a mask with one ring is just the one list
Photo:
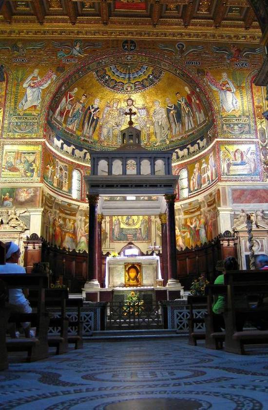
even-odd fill
[(106, 258), (105, 288), (148, 289), (161, 283), (159, 256)]

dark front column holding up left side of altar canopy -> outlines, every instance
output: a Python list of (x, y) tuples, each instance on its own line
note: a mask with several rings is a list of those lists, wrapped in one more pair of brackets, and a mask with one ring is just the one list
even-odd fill
[(98, 195), (87, 195), (89, 203), (89, 232), (88, 232), (88, 280), (87, 288), (99, 287), (97, 275), (97, 204)]

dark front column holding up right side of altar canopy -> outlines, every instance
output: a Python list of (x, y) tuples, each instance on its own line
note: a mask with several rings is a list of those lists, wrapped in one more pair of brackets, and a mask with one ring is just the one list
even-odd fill
[(176, 233), (175, 233), (175, 198), (174, 194), (166, 194), (167, 202), (167, 236), (168, 236), (168, 266), (169, 266), (169, 280), (167, 286), (180, 285), (178, 280), (177, 268), (177, 247), (176, 247)]

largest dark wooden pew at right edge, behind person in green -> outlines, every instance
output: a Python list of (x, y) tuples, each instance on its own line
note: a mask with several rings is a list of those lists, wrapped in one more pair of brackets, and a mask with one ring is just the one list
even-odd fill
[(243, 295), (268, 296), (268, 270), (245, 270), (228, 272), (224, 277), (227, 286), (227, 310), (224, 314), (226, 325), (225, 350), (231, 353), (244, 354), (245, 345), (268, 344), (268, 330), (239, 330), (238, 320), (244, 316), (245, 320), (254, 323), (260, 314), (268, 318), (268, 306), (249, 308), (239, 306), (237, 298)]

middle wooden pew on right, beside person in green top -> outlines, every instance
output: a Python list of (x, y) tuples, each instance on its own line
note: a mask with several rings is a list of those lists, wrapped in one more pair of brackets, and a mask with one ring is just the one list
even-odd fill
[(207, 317), (205, 318), (206, 325), (206, 348), (207, 349), (222, 349), (225, 340), (224, 331), (215, 330), (215, 318), (212, 311), (214, 303), (213, 296), (226, 295), (227, 287), (225, 285), (207, 285), (205, 287), (205, 294), (207, 295)]

